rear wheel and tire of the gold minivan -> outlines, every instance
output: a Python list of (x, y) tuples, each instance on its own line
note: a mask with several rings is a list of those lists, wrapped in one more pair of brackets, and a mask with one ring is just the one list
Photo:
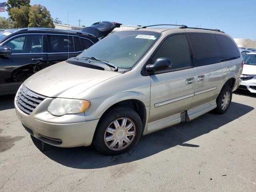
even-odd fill
[(228, 110), (231, 100), (232, 89), (230, 86), (224, 86), (216, 99), (217, 107), (214, 109), (214, 112), (216, 114), (224, 114)]

